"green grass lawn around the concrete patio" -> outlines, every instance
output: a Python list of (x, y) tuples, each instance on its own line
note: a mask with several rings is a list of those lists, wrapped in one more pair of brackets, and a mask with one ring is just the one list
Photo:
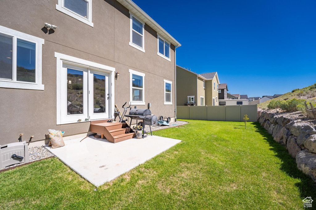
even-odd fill
[(0, 173), (0, 209), (301, 209), (316, 199), (258, 123), (188, 122), (155, 132), (181, 143), (97, 191), (58, 158)]

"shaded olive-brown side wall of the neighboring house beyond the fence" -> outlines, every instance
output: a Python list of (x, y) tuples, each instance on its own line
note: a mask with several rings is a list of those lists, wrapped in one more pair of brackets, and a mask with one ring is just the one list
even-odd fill
[(197, 75), (178, 66), (176, 71), (177, 106), (183, 106), (185, 103), (188, 103), (188, 96), (195, 96), (194, 102), (197, 103)]

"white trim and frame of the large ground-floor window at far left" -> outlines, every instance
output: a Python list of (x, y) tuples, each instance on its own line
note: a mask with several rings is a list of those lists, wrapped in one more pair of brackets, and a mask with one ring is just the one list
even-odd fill
[[(15, 31), (10, 28), (0, 26), (0, 33), (13, 37), (13, 49), (12, 49), (12, 63), (13, 63), (13, 80), (0, 79), (0, 88), (15, 88), (15, 89), (29, 89), (29, 90), (44, 90), (42, 84), (42, 45), (44, 39), (34, 37), (29, 34)], [(16, 39), (26, 40), (35, 43), (35, 82), (21, 82), (16, 81)]]

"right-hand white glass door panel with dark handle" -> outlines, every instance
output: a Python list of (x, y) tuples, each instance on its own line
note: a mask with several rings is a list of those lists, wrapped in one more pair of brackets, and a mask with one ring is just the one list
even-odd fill
[(110, 74), (89, 69), (89, 119), (106, 119), (110, 113)]

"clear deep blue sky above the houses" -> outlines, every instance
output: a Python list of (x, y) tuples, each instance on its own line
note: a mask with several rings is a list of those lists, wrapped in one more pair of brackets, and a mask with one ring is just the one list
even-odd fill
[(134, 0), (170, 33), (177, 65), (217, 71), (232, 94), (283, 94), (316, 82), (315, 0)]

